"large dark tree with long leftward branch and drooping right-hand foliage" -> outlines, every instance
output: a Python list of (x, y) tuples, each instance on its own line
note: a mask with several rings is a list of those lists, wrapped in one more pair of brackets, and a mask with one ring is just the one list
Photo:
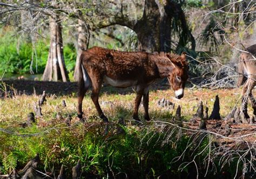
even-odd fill
[[(112, 17), (100, 11), (102, 20), (93, 23), (93, 28), (103, 28), (114, 24), (127, 26), (138, 36), (139, 50), (170, 52), (171, 41), (173, 40), (171, 37), (174, 37), (171, 32), (173, 26), (176, 26), (179, 28), (175, 30), (180, 31), (177, 32), (177, 46), (185, 46), (188, 42), (191, 42), (191, 48), (194, 49), (196, 42), (186, 24), (181, 5), (181, 3), (172, 0), (147, 0), (144, 3), (143, 16), (140, 19), (131, 19), (129, 12), (124, 13), (123, 4), (121, 3), (119, 11), (115, 11)], [(104, 17), (107, 17), (107, 19)]]

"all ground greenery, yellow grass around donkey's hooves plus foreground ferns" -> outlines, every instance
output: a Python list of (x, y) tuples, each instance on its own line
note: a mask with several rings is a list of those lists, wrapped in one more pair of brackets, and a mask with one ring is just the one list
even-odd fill
[[(109, 87), (108, 87), (109, 88)], [(183, 160), (173, 163), (175, 157), (180, 156), (191, 140), (186, 135), (179, 137), (179, 130), (156, 123), (134, 124), (132, 119), (133, 99), (135, 94), (119, 95), (111, 88), (100, 96), (99, 103), (105, 115), (109, 117), (109, 134), (104, 134), (104, 126), (97, 117), (97, 112), (88, 96), (83, 102), (86, 114), (85, 124), (76, 118), (77, 99), (74, 95), (56, 97), (48, 95), (47, 102), (42, 106), (42, 118), (36, 119), (36, 124), (23, 128), (26, 116), (33, 111), (33, 104), (39, 96), (21, 95), (14, 98), (0, 99), (0, 127), (13, 132), (8, 134), (0, 131), (0, 173), (10, 173), (14, 168), (22, 168), (36, 153), (42, 161), (42, 170), (58, 173), (61, 164), (71, 173), (78, 159), (82, 161), (84, 176), (121, 176), (130, 177), (158, 177), (173, 176), (182, 178), (190, 172), (190, 164), (182, 171), (180, 166), (190, 162), (192, 156), (201, 153), (196, 161), (203, 167), (202, 160), (207, 155), (204, 151), (207, 138), (200, 143), (196, 152), (185, 153)], [(150, 115), (152, 121), (170, 121), (175, 111), (157, 106), (161, 98), (181, 105), (184, 120), (196, 112), (199, 101), (207, 102), (211, 112), (215, 95), (220, 98), (220, 114), (226, 116), (239, 101), (241, 89), (186, 89), (183, 99), (173, 97), (173, 91), (156, 90), (150, 92)], [(47, 93), (47, 91), (46, 91)], [(90, 92), (89, 92), (90, 94)], [(62, 100), (66, 107), (62, 107)], [(102, 104), (104, 102), (104, 104)], [(250, 108), (250, 106), (249, 106)], [(250, 111), (251, 113), (252, 111)], [(56, 119), (59, 113), (63, 118)], [(65, 118), (71, 114), (71, 126), (64, 124)], [(140, 106), (139, 117), (143, 119), (143, 107)], [(118, 119), (123, 118), (124, 134), (116, 134)], [(223, 170), (223, 169), (222, 169)], [(224, 170), (232, 170), (225, 167)], [(200, 174), (203, 175), (203, 169)], [(207, 175), (209, 178), (217, 175)]]

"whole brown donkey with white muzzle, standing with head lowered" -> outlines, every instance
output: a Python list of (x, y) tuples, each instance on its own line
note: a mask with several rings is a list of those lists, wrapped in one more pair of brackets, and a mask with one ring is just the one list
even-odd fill
[(135, 86), (137, 96), (133, 118), (138, 118), (138, 108), (143, 97), (145, 119), (149, 117), (149, 85), (157, 78), (167, 77), (176, 98), (184, 95), (185, 82), (188, 78), (188, 65), (185, 53), (151, 54), (146, 52), (120, 52), (101, 47), (87, 49), (80, 56), (80, 75), (78, 89), (78, 117), (82, 119), (82, 101), (87, 89), (92, 87), (91, 99), (99, 117), (105, 123), (105, 117), (99, 106), (99, 92), (103, 82), (113, 87), (126, 88)]

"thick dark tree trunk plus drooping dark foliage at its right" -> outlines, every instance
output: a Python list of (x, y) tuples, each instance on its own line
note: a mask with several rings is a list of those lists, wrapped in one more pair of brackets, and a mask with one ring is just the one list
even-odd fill
[(132, 29), (138, 35), (140, 51), (170, 52), (171, 51), (171, 24), (174, 16), (178, 17), (181, 33), (178, 46), (185, 46), (191, 41), (194, 49), (196, 42), (191, 34), (181, 6), (170, 0), (147, 0), (143, 17), (137, 21)]

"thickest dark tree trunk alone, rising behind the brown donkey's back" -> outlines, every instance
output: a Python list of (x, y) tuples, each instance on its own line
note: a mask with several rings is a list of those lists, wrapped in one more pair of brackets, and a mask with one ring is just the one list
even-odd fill
[(170, 28), (171, 18), (166, 15), (162, 2), (154, 0), (145, 1), (143, 17), (138, 20), (133, 28), (138, 35), (139, 50), (170, 52)]

